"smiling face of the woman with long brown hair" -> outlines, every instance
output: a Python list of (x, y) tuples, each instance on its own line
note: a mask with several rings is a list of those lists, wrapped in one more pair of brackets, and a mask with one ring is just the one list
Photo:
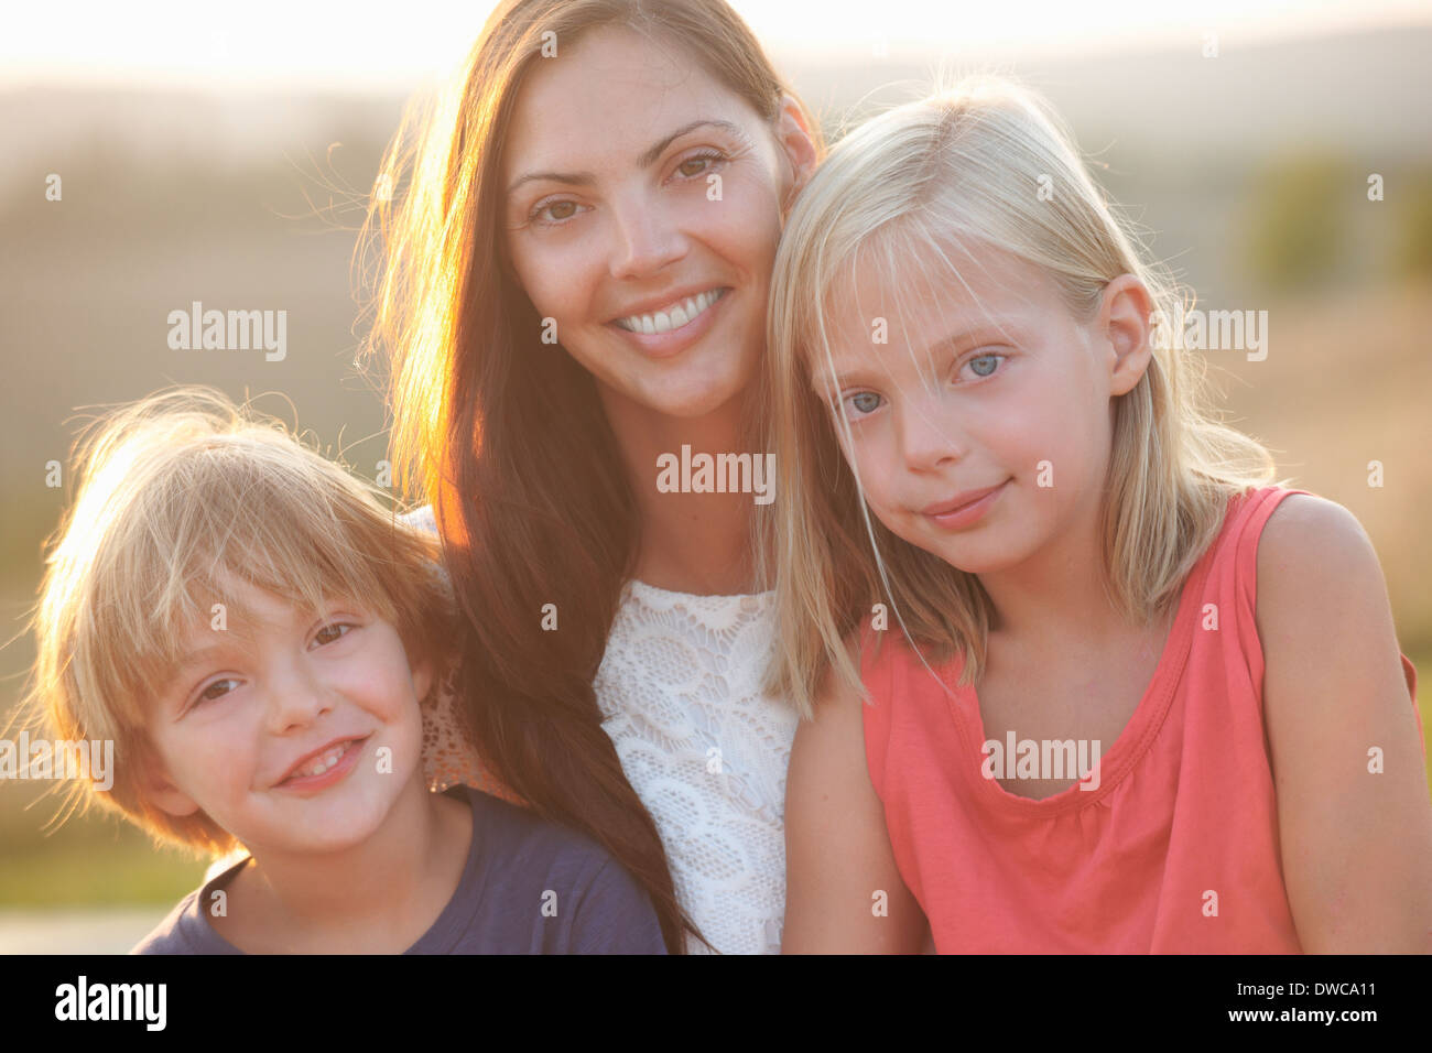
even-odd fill
[(765, 122), (690, 56), (616, 27), (558, 40), (503, 158), (514, 271), (609, 413), (707, 414), (765, 347), (783, 203), (815, 150), (793, 100)]

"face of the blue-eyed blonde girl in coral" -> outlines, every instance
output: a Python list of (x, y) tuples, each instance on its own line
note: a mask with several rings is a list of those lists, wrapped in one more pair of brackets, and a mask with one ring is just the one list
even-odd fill
[[(1111, 398), (1147, 365), (1148, 301), (1126, 275), (1081, 322), (1040, 268), (997, 251), (955, 258), (975, 261), (961, 262), (962, 281), (929, 288), (912, 265), (898, 291), (862, 261), (855, 292), (838, 301), (832, 347), (851, 437), (835, 427), (875, 516), (982, 574), (1097, 514)], [(888, 342), (874, 338), (876, 319)], [(828, 398), (831, 367), (812, 365), (812, 387)]]

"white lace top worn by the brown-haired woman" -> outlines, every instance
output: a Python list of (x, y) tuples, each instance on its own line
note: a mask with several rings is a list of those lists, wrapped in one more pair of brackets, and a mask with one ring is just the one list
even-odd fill
[[(430, 509), (407, 519), (437, 529)], [(593, 685), (677, 900), (723, 954), (780, 950), (798, 718), (760, 689), (773, 632), (773, 593), (697, 596), (632, 580)], [(687, 938), (687, 950), (706, 948)]]

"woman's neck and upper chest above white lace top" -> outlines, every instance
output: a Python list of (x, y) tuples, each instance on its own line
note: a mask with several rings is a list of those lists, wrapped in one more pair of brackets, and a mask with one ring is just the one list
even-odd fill
[(632, 403), (604, 400), (626, 461), (640, 519), (634, 574), (647, 585), (700, 595), (748, 593), (755, 587), (750, 493), (663, 493), (657, 458), (680, 464), (689, 454), (742, 454), (742, 398), (702, 417), (670, 417)]

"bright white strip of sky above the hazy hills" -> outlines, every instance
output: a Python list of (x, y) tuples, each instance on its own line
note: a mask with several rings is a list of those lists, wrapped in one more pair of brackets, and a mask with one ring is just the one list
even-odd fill
[[(381, 92), (445, 76), (495, 4), (485, 0), (73, 0), (10, 6), (0, 87), (122, 83)], [(1428, 0), (735, 0), (775, 59), (872, 53), (1031, 57), (1221, 49), (1432, 24)], [(948, 43), (941, 43), (948, 42)]]

